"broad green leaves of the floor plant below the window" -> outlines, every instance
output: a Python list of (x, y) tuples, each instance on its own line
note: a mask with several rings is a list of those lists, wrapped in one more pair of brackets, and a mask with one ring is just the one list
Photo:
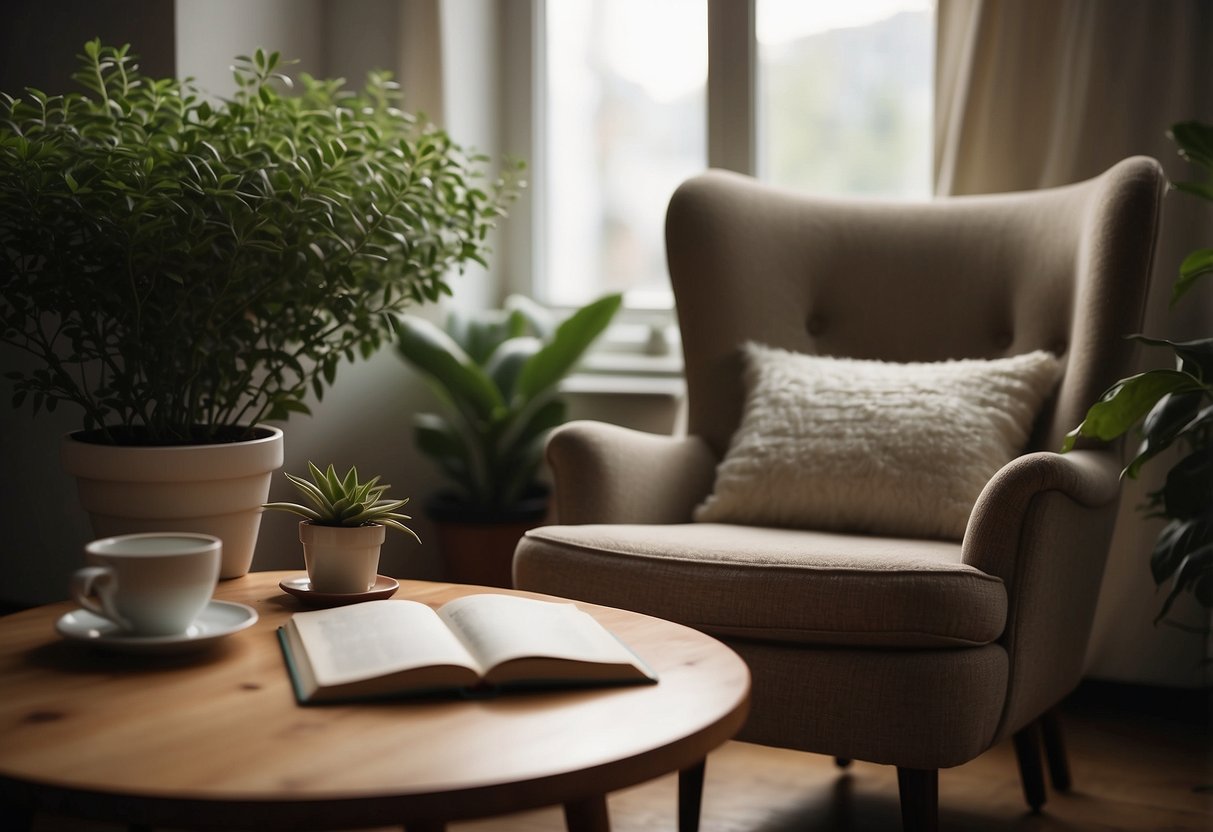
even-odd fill
[(547, 432), (565, 420), (557, 387), (621, 303), (608, 295), (559, 324), (520, 296), (502, 310), (452, 314), (445, 330), (402, 318), (400, 355), (448, 406), (418, 414), (414, 440), (471, 506), (500, 512), (536, 484)]

